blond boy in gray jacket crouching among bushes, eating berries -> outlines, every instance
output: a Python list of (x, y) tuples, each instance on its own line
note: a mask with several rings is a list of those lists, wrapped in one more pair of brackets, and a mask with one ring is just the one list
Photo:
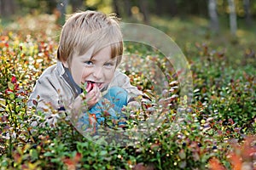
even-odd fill
[[(37, 111), (83, 113), (85, 125), (91, 122), (89, 116), (102, 123), (106, 111), (118, 119), (116, 113), (143, 94), (117, 70), (122, 54), (122, 34), (114, 15), (96, 11), (73, 14), (61, 30), (57, 64), (38, 78), (27, 105), (36, 106)], [(107, 108), (106, 100), (113, 106)]]

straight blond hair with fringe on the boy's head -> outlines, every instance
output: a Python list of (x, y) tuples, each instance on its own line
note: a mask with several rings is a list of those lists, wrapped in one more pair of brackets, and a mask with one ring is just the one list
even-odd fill
[(57, 59), (70, 62), (73, 54), (85, 54), (93, 48), (96, 54), (110, 45), (111, 57), (117, 57), (119, 65), (123, 54), (123, 39), (115, 14), (84, 11), (72, 14), (61, 30)]

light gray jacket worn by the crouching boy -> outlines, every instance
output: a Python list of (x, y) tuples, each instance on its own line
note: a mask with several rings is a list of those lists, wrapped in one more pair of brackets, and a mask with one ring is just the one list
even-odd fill
[[(113, 80), (108, 84), (108, 88), (111, 87), (124, 88), (128, 93), (128, 101), (132, 97), (143, 95), (141, 91), (131, 85), (130, 78), (118, 70), (114, 72)], [(102, 93), (106, 93), (108, 88)], [(58, 61), (57, 64), (49, 66), (38, 78), (27, 101), (27, 106), (36, 106), (38, 111), (48, 110), (49, 106), (58, 110), (71, 105), (79, 94), (80, 92), (70, 81), (63, 65)]]

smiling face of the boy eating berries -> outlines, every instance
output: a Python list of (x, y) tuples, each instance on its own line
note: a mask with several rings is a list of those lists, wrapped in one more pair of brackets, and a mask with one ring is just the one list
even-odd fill
[[(92, 49), (86, 54), (75, 54), (69, 65), (74, 82), (78, 85), (84, 82), (96, 83), (100, 90), (111, 82), (116, 68), (116, 57), (111, 59), (110, 46), (102, 48), (91, 57)], [(67, 63), (64, 64), (65, 66)]]

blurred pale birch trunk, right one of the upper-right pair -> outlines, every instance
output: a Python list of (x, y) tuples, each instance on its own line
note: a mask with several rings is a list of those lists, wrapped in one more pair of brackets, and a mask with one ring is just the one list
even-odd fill
[(228, 0), (229, 12), (230, 12), (230, 31), (232, 35), (236, 35), (237, 23), (236, 23), (236, 4), (234, 0)]

